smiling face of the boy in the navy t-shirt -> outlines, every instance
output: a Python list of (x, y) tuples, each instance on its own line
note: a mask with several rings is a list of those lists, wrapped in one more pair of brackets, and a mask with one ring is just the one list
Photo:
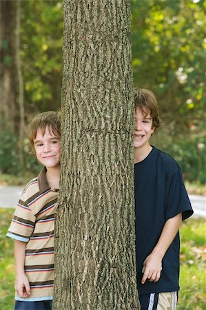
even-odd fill
[(137, 107), (134, 118), (134, 147), (142, 148), (149, 145), (150, 137), (155, 128), (152, 127), (152, 118), (150, 111), (145, 110), (145, 113)]

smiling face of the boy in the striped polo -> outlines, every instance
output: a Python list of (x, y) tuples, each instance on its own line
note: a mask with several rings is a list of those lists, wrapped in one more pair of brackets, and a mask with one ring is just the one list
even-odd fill
[(60, 166), (61, 157), (61, 137), (54, 134), (48, 127), (43, 135), (41, 130), (37, 130), (34, 138), (34, 149), (39, 163), (47, 168)]

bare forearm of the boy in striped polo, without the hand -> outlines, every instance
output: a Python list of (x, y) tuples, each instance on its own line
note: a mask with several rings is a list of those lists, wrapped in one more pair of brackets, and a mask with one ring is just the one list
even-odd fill
[(24, 273), (25, 247), (27, 243), (14, 240), (14, 257), (16, 274)]

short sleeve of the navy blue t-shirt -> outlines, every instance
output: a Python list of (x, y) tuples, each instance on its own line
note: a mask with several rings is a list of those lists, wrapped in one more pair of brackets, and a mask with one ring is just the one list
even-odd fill
[(182, 212), (183, 220), (192, 216), (192, 205), (183, 182), (181, 169), (177, 166), (176, 171), (166, 180), (166, 220)]

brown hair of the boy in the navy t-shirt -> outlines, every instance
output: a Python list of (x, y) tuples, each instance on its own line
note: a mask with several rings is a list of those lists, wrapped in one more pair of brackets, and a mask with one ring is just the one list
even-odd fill
[(158, 128), (161, 126), (162, 121), (158, 113), (158, 104), (153, 92), (144, 88), (136, 88), (134, 90), (134, 106), (135, 110), (139, 107), (144, 114), (147, 114), (148, 110), (150, 111), (152, 127)]

